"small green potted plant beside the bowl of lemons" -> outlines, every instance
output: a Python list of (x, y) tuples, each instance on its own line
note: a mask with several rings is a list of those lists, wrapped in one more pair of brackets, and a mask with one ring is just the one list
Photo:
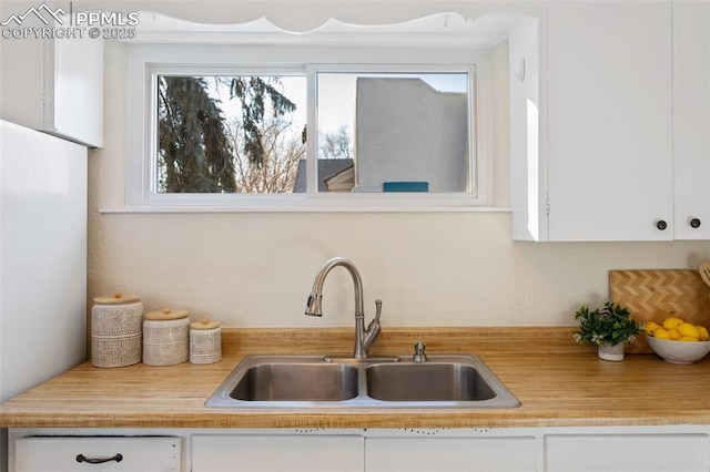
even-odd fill
[(604, 360), (623, 360), (623, 345), (633, 342), (642, 328), (627, 308), (611, 301), (594, 311), (582, 305), (575, 319), (579, 321), (579, 330), (574, 334), (577, 342), (597, 345)]

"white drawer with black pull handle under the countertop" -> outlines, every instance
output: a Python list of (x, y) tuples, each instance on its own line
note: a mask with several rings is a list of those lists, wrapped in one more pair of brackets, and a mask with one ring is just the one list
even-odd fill
[[(180, 472), (180, 438), (19, 438), (14, 441), (14, 470)], [(116, 454), (120, 454), (120, 460), (116, 460)], [(111, 458), (114, 459), (104, 463), (87, 461)]]

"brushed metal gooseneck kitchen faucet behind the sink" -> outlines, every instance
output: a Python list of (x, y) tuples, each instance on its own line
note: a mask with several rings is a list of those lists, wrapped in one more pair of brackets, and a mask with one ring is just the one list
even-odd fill
[(355, 286), (355, 350), (353, 351), (353, 357), (355, 359), (367, 359), (367, 352), (382, 330), (379, 325), (382, 300), (375, 300), (375, 318), (369, 322), (367, 329), (365, 329), (365, 312), (363, 311), (363, 281), (355, 264), (344, 257), (334, 257), (331, 260), (327, 260), (315, 276), (313, 290), (311, 290), (311, 295), (306, 301), (305, 314), (311, 316), (323, 316), (323, 311), (321, 309), (321, 300), (323, 298), (321, 290), (323, 290), (323, 283), (325, 281), (325, 277), (328, 273), (337, 266), (342, 266), (351, 273), (353, 284)]

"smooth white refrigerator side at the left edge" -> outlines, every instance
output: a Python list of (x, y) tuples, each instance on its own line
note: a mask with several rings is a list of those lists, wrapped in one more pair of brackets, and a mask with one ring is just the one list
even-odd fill
[(0, 121), (0, 401), (87, 359), (88, 157)]

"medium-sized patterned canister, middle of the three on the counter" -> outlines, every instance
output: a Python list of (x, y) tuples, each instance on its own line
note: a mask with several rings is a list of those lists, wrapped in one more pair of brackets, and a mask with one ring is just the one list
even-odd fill
[(190, 318), (186, 310), (149, 311), (143, 321), (143, 363), (173, 366), (190, 358)]

